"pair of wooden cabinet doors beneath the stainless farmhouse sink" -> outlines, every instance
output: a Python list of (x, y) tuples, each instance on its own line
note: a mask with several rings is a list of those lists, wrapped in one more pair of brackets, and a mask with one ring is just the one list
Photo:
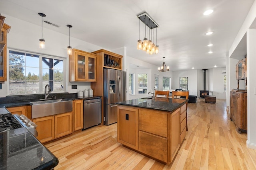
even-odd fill
[(36, 123), (37, 139), (44, 143), (73, 132), (72, 112), (32, 120)]

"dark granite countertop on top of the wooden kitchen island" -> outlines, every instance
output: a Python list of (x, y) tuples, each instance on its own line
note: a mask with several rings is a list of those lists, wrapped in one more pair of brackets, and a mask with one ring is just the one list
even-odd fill
[(174, 111), (184, 105), (188, 100), (186, 99), (172, 99), (172, 98), (155, 98), (155, 99), (133, 99), (118, 102), (116, 104), (142, 107), (146, 109), (156, 109), (162, 111)]

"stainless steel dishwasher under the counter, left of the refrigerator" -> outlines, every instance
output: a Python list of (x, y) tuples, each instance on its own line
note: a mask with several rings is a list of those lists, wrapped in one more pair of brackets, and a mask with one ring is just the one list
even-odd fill
[(101, 99), (84, 100), (84, 129), (101, 123)]

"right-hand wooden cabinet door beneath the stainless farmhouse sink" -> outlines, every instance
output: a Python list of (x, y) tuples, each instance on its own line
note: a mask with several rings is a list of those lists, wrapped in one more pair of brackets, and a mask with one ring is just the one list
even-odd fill
[(63, 113), (55, 116), (55, 138), (72, 133), (72, 112)]

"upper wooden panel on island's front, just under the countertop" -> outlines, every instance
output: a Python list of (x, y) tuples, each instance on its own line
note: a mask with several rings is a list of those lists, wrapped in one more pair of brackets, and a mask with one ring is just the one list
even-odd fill
[(168, 112), (140, 109), (139, 130), (167, 137)]

